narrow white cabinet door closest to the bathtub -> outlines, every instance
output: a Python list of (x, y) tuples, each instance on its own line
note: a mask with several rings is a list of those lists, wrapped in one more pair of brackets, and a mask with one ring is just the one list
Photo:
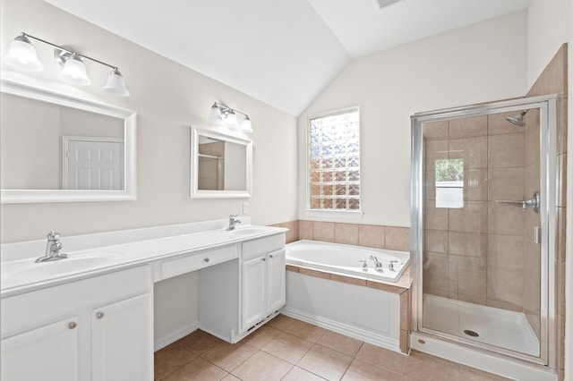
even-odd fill
[(267, 260), (267, 314), (286, 304), (286, 250), (269, 253)]

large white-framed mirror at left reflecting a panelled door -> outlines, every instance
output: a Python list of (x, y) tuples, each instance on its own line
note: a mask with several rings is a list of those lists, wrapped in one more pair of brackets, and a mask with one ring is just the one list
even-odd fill
[(136, 198), (133, 110), (0, 81), (2, 203)]

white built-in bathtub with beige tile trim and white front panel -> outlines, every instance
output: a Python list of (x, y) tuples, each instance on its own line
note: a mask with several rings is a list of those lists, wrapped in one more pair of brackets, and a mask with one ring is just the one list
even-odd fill
[[(371, 256), (381, 263), (382, 271), (376, 271)], [(407, 352), (408, 263), (409, 253), (403, 251), (320, 241), (289, 243), (286, 307), (281, 312), (367, 343)]]

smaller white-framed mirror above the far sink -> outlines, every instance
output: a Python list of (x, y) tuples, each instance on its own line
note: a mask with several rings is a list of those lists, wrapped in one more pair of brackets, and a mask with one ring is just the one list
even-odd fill
[(251, 197), (252, 140), (226, 130), (192, 126), (192, 198)]

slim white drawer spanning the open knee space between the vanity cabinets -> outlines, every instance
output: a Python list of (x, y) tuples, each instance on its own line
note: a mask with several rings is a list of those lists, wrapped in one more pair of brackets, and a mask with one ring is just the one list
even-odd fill
[(154, 282), (238, 258), (236, 245), (182, 254), (155, 264)]

